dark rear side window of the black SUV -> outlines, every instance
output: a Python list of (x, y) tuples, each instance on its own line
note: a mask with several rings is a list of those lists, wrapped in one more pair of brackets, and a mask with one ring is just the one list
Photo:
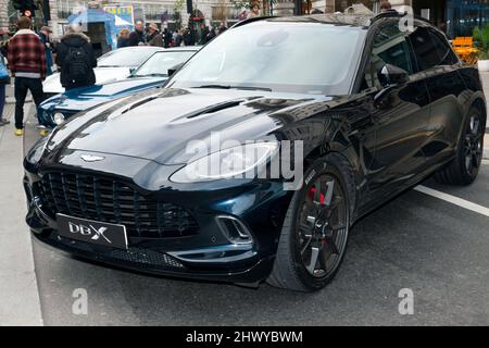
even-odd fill
[(409, 39), (421, 71), (437, 65), (451, 65), (457, 61), (447, 40), (430, 28), (417, 27)]

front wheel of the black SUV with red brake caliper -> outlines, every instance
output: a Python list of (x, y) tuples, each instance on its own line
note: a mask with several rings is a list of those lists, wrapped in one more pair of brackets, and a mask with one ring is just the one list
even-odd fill
[[(308, 178), (310, 179), (308, 181)], [(326, 182), (326, 185), (321, 184), (323, 179), (326, 181), (328, 178), (334, 179), (333, 185), (330, 185), (331, 182)], [(318, 190), (318, 196), (316, 195), (316, 183), (318, 187), (326, 186), (324, 195), (322, 192), (323, 188)], [(329, 199), (329, 206), (326, 206), (328, 203), (328, 190), (331, 192), (331, 195), (329, 195), (331, 198)], [(314, 195), (314, 198), (312, 198), (311, 195)], [(339, 197), (340, 195), (343, 196), (342, 203), (341, 198)], [(319, 204), (316, 202), (316, 196), (319, 198)], [(348, 161), (342, 156), (330, 153), (312, 163), (304, 173), (304, 184), (302, 185), (302, 188), (294, 192), (287, 210), (273, 271), (266, 282), (274, 287), (297, 291), (315, 291), (324, 288), (335, 277), (344, 258), (350, 229), (350, 216), (354, 207), (354, 197), (355, 187), (353, 173)], [(321, 199), (323, 199), (322, 203)], [(336, 208), (336, 213), (333, 211), (334, 206), (338, 206), (338, 208)], [(341, 209), (339, 208), (340, 206)], [(324, 209), (328, 210), (328, 213), (319, 213), (316, 216), (313, 224), (314, 226), (308, 225), (308, 228), (314, 229), (312, 236), (316, 236), (316, 232), (318, 231), (317, 226), (323, 225), (323, 229), (319, 228), (323, 231), (323, 234), (319, 233), (319, 237), (317, 238), (324, 238), (324, 240), (316, 240), (315, 237), (311, 237), (311, 259), (309, 261), (309, 258), (306, 257), (309, 250), (302, 251), (304, 245), (306, 245), (306, 243), (304, 243), (306, 238), (302, 234), (304, 227), (302, 216), (308, 211), (304, 207), (312, 207), (311, 209), (317, 210), (322, 209), (321, 207), (327, 207)], [(327, 217), (328, 214), (329, 217)], [(319, 215), (326, 217), (318, 217)], [(340, 215), (342, 222), (336, 222), (334, 216), (338, 217)], [(308, 222), (310, 217), (311, 216), (308, 216)], [(326, 219), (328, 219), (329, 224), (321, 222), (323, 220), (326, 221)], [(333, 220), (337, 223), (336, 227), (342, 227), (341, 232), (324, 232), (325, 227), (334, 229)], [(342, 224), (344, 224), (344, 226), (342, 226)], [(299, 228), (299, 225), (301, 228)], [(330, 239), (327, 239), (325, 235), (329, 235)], [(323, 248), (321, 250), (321, 256), (317, 257), (318, 261), (314, 263), (312, 261), (312, 249), (314, 246), (316, 246), (315, 249), (318, 249), (318, 245), (322, 245)], [(326, 250), (326, 248), (328, 250)], [(337, 249), (338, 254), (333, 252), (334, 249)], [(327, 269), (325, 265), (324, 270), (315, 270), (316, 264), (322, 269), (323, 262), (327, 263), (327, 261), (329, 261), (329, 259), (326, 260), (326, 253), (328, 253), (329, 250), (330, 258), (335, 257), (331, 261), (331, 268)], [(317, 254), (317, 252), (314, 254)], [(312, 265), (313, 263), (314, 265)]]

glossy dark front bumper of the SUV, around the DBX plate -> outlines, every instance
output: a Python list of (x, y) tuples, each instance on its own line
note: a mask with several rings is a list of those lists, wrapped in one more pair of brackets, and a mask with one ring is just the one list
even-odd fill
[[(29, 202), (26, 222), (43, 244), (77, 257), (141, 272), (186, 278), (255, 283), (266, 278), (281, 228), (288, 195), (278, 183), (263, 182), (246, 188), (220, 189), (196, 196), (181, 191), (175, 203), (191, 211), (199, 225), (196, 235), (177, 238), (129, 236), (128, 249), (116, 249), (78, 241), (59, 235), (55, 215), (46, 212), (36, 190), (40, 176), (26, 171), (24, 187)], [(141, 194), (145, 190), (141, 189)], [(146, 192), (147, 194), (147, 192)], [(196, 198), (197, 197), (197, 198)], [(233, 216), (251, 232), (252, 244), (230, 243), (216, 216)], [(77, 216), (80, 217), (80, 216)]]

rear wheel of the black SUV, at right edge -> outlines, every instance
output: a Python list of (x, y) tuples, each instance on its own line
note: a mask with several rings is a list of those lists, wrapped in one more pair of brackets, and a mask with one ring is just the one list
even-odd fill
[(455, 158), (435, 174), (438, 183), (457, 186), (474, 183), (482, 161), (485, 130), (486, 117), (482, 112), (478, 108), (471, 108), (459, 140)]

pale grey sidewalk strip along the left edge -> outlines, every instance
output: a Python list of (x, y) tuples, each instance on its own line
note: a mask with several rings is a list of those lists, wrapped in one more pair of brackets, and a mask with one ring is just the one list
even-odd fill
[(14, 135), (13, 111), (14, 104), (5, 105), (3, 114), (12, 123), (0, 127), (0, 326), (42, 325), (30, 233), (24, 222), (23, 138)]

